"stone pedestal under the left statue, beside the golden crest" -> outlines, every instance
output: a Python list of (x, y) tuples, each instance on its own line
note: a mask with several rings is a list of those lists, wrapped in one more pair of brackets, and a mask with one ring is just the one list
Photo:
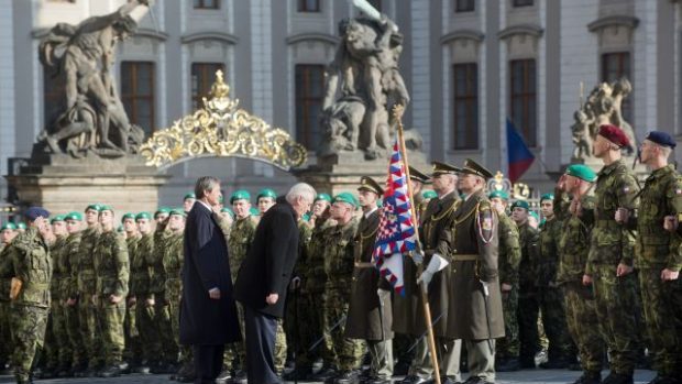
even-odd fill
[(66, 213), (100, 202), (111, 206), (119, 218), (123, 212), (156, 210), (158, 187), (168, 177), (134, 155), (108, 160), (40, 154), (7, 179), (22, 208), (43, 206), (53, 213)]

